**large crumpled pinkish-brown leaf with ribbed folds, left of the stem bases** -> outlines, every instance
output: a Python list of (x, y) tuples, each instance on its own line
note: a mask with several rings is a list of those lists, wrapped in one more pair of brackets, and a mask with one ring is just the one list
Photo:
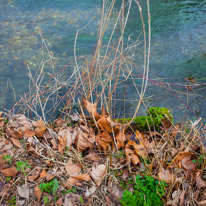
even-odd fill
[(83, 132), (81, 128), (75, 140), (77, 149), (82, 152), (88, 148), (93, 148), (94, 142), (95, 142), (94, 133), (92, 131), (89, 131), (88, 133)]

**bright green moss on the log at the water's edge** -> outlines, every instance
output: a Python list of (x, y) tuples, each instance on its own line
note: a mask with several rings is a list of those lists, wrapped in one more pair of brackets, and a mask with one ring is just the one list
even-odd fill
[[(127, 123), (131, 118), (116, 119), (117, 122)], [(160, 127), (168, 127), (173, 123), (173, 116), (168, 108), (165, 107), (150, 107), (148, 116), (135, 117), (131, 124), (133, 129), (144, 130), (159, 130)]]

